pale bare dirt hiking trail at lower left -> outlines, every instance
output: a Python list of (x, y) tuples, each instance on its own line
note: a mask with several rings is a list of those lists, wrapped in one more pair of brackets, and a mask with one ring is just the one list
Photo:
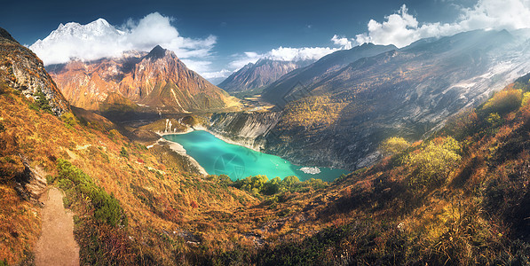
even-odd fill
[(79, 246), (74, 239), (73, 215), (65, 209), (63, 194), (51, 188), (41, 197), (43, 231), (36, 244), (36, 266), (79, 265)]

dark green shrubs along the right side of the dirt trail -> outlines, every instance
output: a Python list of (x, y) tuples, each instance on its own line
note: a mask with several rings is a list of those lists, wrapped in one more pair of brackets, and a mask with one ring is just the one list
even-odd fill
[(67, 160), (57, 161), (59, 174), (49, 178), (66, 192), (63, 203), (75, 210), (75, 239), (83, 265), (131, 264), (127, 217), (113, 194)]

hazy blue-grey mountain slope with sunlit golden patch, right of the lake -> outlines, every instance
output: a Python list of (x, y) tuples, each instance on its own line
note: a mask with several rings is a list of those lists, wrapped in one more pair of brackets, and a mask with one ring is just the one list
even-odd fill
[(288, 104), (265, 150), (298, 163), (367, 166), (384, 137), (419, 139), (529, 71), (527, 44), (479, 30), (359, 59), (304, 86), (275, 82), (263, 97)]

